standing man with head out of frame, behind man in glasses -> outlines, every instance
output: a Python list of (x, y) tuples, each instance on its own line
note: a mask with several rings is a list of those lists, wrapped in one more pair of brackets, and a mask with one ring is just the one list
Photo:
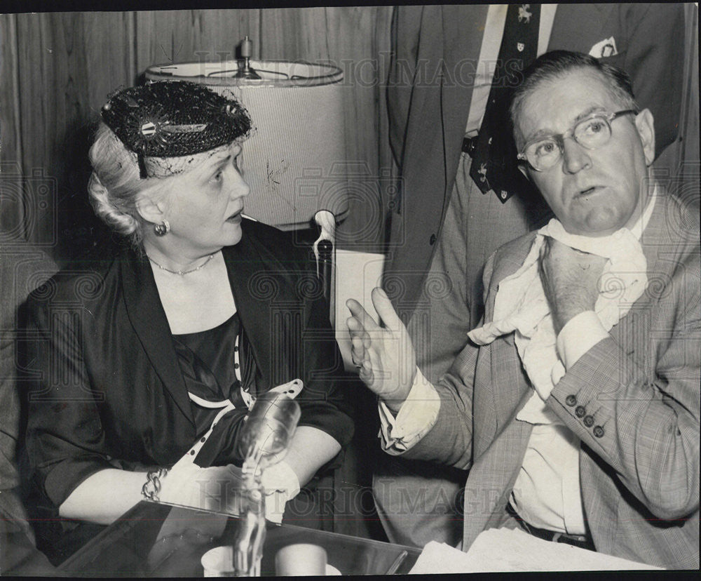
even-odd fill
[[(510, 137), (501, 94), (513, 73), (561, 49), (622, 67), (655, 117), (655, 152), (664, 150), (655, 168), (666, 168), (683, 93), (684, 10), (610, 2), (394, 8), (388, 135), (401, 180), (383, 277), (426, 378), (448, 370), (482, 316), (489, 255), (551, 217), (499, 140), (484, 149), (494, 135)], [(505, 163), (495, 175), (497, 161)], [(459, 470), (418, 460), (379, 463), (374, 498), (390, 540), (458, 542), (461, 509), (452, 501), (463, 480)]]

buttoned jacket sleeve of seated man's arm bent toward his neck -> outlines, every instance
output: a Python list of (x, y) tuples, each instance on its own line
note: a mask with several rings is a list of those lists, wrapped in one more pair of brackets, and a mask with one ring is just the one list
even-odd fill
[(699, 507), (699, 288), (694, 253), (660, 297), (635, 305), (622, 329), (580, 357), (547, 399), (583, 445), (665, 520)]

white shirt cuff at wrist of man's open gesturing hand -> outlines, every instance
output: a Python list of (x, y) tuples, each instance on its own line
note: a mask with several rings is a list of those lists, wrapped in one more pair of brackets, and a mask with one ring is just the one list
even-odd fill
[(440, 396), (435, 387), (416, 368), (416, 378), (407, 399), (393, 415), (385, 403), (378, 402), (380, 415), (379, 437), (382, 448), (391, 455), (406, 452), (435, 425), (440, 410)]

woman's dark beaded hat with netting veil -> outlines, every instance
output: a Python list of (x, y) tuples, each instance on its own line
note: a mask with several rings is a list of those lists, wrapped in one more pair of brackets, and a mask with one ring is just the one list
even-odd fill
[(250, 135), (251, 119), (233, 97), (189, 81), (125, 88), (102, 107), (102, 120), (135, 154), (141, 178), (188, 171)]

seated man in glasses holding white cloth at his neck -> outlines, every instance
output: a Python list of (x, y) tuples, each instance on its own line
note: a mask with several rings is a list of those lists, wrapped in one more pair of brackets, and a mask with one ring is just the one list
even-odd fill
[(353, 300), (360, 377), (390, 454), (469, 469), (463, 549), (487, 528), (669, 568), (699, 565), (698, 218), (655, 184), (627, 75), (546, 53), (510, 108), (557, 220), (484, 269), (481, 326), (440, 382), (381, 289)]

